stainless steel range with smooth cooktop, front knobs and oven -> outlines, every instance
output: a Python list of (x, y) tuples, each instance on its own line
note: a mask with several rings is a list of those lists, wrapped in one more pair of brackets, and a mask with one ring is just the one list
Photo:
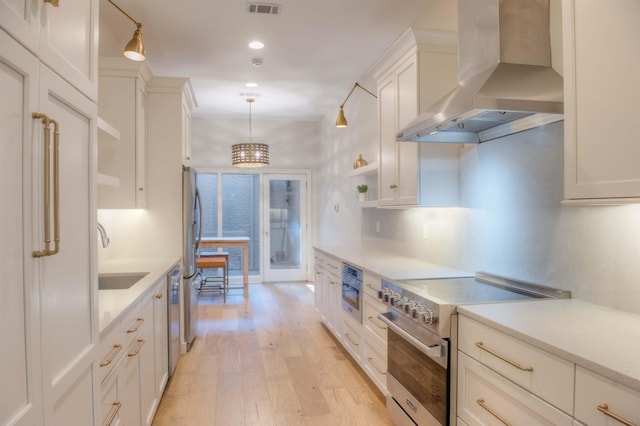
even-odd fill
[[(455, 424), (457, 310), (472, 303), (569, 298), (550, 287), (477, 273), (470, 278), (382, 280), (378, 318), (388, 333), (387, 410), (396, 425)], [(451, 418), (453, 417), (453, 418)]]

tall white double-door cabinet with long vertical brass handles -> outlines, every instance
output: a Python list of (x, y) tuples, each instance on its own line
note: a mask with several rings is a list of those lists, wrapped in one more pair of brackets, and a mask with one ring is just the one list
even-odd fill
[[(92, 259), (95, 255), (93, 174), (96, 106), (54, 74), (42, 62), (0, 31), (4, 99), (2, 120), (2, 195), (6, 206), (3, 270), (10, 274), (8, 297), (0, 312), (10, 324), (0, 362), (2, 377), (12, 385), (2, 395), (2, 423), (92, 424), (95, 394), (93, 347), (97, 340)], [(39, 113), (59, 131), (59, 204), (45, 215), (45, 130)], [(42, 117), (44, 117), (42, 115)], [(52, 150), (50, 161), (55, 158)], [(5, 173), (10, 173), (5, 175)], [(17, 191), (17, 192), (16, 192)], [(34, 257), (47, 249), (46, 226), (55, 239), (58, 213), (60, 246), (51, 256)], [(13, 237), (11, 237), (13, 236)], [(50, 243), (54, 249), (55, 243)], [(5, 251), (7, 251), (5, 253)], [(73, 267), (70, 267), (73, 265)], [(60, 344), (64, 342), (64, 344)], [(9, 353), (10, 352), (10, 353)], [(46, 356), (43, 356), (46, 354)]]

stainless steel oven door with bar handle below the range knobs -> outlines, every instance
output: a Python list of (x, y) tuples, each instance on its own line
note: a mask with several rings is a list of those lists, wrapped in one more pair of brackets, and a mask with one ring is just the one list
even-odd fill
[[(387, 410), (396, 424), (449, 423), (449, 341), (395, 311), (387, 325)], [(394, 418), (395, 417), (395, 418)]]

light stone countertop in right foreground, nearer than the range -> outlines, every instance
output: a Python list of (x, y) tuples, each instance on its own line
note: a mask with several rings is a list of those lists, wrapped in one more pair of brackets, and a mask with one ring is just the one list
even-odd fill
[(458, 314), (640, 392), (640, 315), (577, 299), (465, 305)]

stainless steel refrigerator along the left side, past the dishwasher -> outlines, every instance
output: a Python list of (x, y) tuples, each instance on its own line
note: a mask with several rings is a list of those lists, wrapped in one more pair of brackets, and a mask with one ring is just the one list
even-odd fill
[(196, 187), (196, 173), (182, 168), (182, 236), (184, 276), (182, 280), (183, 339), (185, 351), (196, 337), (196, 304), (200, 277), (196, 268), (196, 253), (202, 238), (202, 200)]

